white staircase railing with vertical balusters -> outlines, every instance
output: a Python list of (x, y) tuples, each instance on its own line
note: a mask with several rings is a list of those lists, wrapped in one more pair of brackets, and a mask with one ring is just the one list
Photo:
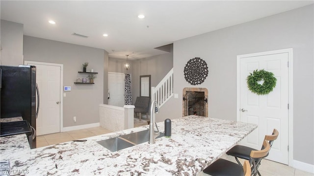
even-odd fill
[(159, 82), (156, 87), (151, 89), (152, 100), (156, 100), (159, 108), (162, 107), (173, 96), (173, 68)]

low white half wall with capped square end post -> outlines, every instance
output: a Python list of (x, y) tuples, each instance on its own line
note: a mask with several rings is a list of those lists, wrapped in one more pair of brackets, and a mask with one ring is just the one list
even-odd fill
[(99, 105), (101, 127), (112, 132), (126, 130), (134, 127), (134, 105), (122, 107), (112, 105)]

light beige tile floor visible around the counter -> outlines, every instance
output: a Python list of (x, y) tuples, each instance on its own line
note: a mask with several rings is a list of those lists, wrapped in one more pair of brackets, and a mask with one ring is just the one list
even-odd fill
[[(139, 119), (134, 118), (134, 127), (147, 125), (146, 120), (147, 119), (142, 119), (141, 121), (139, 121)], [(69, 132), (57, 132), (52, 134), (40, 135), (37, 136), (37, 148), (77, 140), (85, 137), (105, 134), (109, 132), (110, 132), (109, 130), (106, 130), (102, 127), (95, 127)], [(228, 159), (236, 163), (235, 158), (233, 156), (224, 155), (222, 158)], [(240, 162), (243, 163), (244, 160), (240, 159)], [(259, 171), (262, 176), (314, 176), (314, 174), (294, 169), (285, 164), (280, 164), (267, 159), (262, 160), (261, 166), (259, 167)], [(200, 174), (198, 174), (198, 176), (209, 175), (201, 172)]]

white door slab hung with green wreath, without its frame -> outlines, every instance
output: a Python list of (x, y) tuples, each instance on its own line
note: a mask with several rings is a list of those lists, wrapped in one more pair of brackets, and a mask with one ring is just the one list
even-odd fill
[[(267, 159), (288, 164), (288, 53), (238, 56), (238, 59), (240, 121), (258, 125), (241, 145), (261, 149), (265, 134), (271, 134), (275, 128), (279, 136)], [(246, 78), (256, 69), (270, 71), (277, 78), (276, 87), (267, 95), (257, 95), (247, 88)]]

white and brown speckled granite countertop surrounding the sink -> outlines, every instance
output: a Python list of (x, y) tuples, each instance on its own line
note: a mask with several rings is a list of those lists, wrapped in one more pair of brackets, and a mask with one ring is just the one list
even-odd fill
[[(163, 132), (164, 123), (157, 125)], [(85, 142), (32, 150), (18, 144), (28, 144), (23, 135), (1, 137), (1, 160), (9, 159), (11, 170), (29, 176), (195, 176), (257, 125), (190, 115), (173, 119), (171, 138), (157, 138), (152, 145), (145, 142), (110, 152), (97, 143), (148, 128), (146, 125), (88, 137)]]

